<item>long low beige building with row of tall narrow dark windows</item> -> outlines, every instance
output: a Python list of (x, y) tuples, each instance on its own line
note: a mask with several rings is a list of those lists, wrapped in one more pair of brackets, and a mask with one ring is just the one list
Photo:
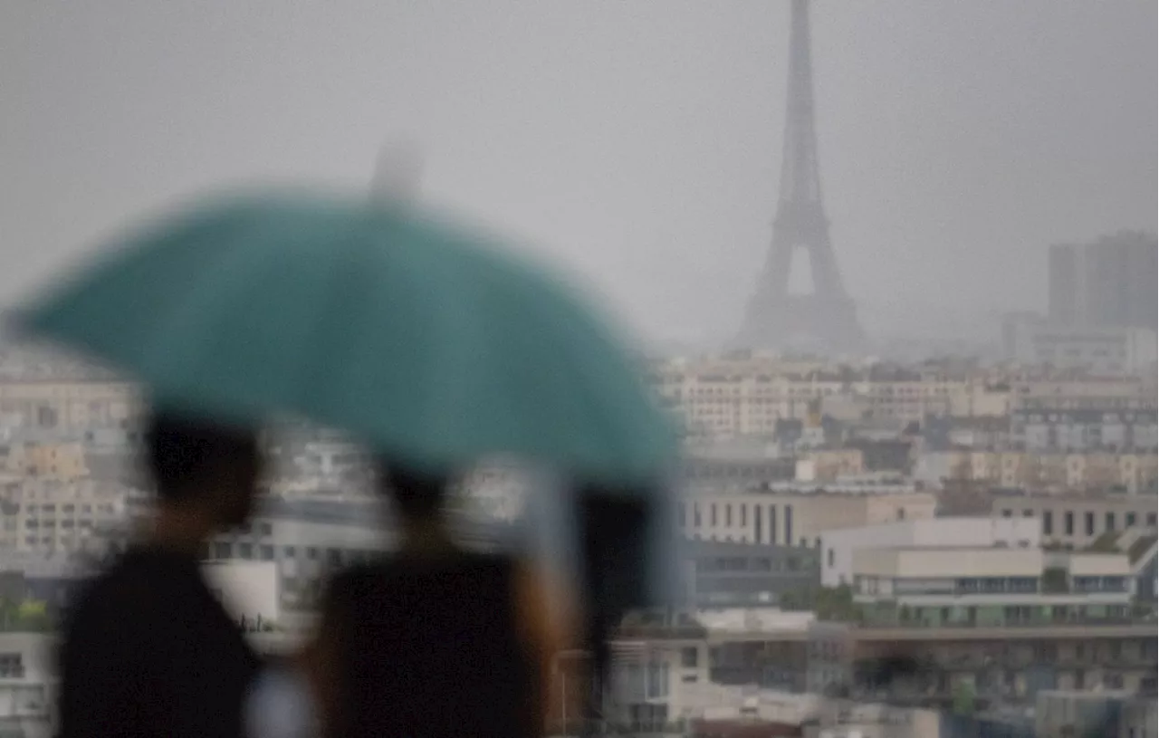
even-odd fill
[(679, 506), (685, 536), (775, 546), (821, 546), (821, 535), (896, 520), (934, 517), (936, 499), (928, 492), (704, 492)]

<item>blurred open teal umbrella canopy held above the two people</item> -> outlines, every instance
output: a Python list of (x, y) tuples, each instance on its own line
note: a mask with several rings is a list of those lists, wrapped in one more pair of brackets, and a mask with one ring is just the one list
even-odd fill
[(613, 330), (474, 228), (280, 191), (204, 204), (17, 313), (176, 409), (301, 414), (418, 468), (653, 478), (675, 434)]

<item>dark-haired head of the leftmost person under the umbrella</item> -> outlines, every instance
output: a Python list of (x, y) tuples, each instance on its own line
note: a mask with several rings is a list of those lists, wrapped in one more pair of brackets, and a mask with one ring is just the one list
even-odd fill
[(220, 528), (253, 511), (261, 475), (255, 430), (158, 411), (145, 431), (145, 462), (162, 507), (197, 512)]

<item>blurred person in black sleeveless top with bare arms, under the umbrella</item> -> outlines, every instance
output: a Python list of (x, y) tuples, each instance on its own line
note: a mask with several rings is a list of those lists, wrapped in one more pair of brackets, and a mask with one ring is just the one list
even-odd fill
[(447, 478), (392, 468), (396, 555), (335, 577), (305, 652), (323, 735), (531, 738), (559, 643), (546, 595), (515, 558), (461, 550)]

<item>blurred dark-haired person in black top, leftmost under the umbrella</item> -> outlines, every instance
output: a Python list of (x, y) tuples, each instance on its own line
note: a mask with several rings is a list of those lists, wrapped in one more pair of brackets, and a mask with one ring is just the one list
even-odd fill
[(61, 738), (233, 738), (258, 658), (202, 577), (213, 534), (249, 517), (257, 434), (160, 414), (146, 433), (156, 513), (70, 609)]

